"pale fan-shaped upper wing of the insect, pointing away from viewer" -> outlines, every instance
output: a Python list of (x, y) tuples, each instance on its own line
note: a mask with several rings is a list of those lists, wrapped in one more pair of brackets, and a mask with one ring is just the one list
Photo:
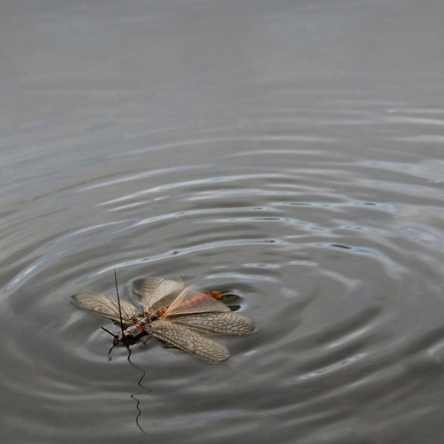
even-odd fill
[(138, 277), (127, 284), (126, 291), (139, 298), (145, 312), (153, 312), (170, 305), (183, 287), (180, 279), (175, 281), (163, 277)]

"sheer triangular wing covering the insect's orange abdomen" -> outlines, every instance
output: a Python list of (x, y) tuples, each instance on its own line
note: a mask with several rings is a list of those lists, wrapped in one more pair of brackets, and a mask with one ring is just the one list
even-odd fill
[(165, 316), (174, 317), (181, 314), (206, 312), (231, 312), (231, 310), (209, 293), (201, 293), (191, 286), (183, 289), (166, 310)]

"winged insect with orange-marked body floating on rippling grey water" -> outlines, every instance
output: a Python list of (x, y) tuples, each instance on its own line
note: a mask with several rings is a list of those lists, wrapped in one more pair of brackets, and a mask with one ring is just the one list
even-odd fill
[[(144, 337), (155, 337), (167, 347), (210, 362), (225, 361), (230, 353), (225, 346), (205, 336), (206, 333), (245, 334), (254, 329), (253, 322), (234, 313), (220, 299), (218, 291), (199, 292), (185, 287), (181, 280), (163, 277), (138, 278), (131, 281), (125, 293), (136, 296), (143, 305), (143, 313), (126, 299), (106, 297), (103, 293), (77, 293), (73, 301), (80, 308), (111, 319), (120, 326), (114, 345), (131, 345)], [(204, 334), (202, 334), (204, 333)]]

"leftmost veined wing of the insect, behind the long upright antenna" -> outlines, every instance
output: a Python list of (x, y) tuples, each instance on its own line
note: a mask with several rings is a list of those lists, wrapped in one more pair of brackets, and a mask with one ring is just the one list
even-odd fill
[[(72, 300), (80, 308), (91, 310), (99, 316), (120, 322), (117, 299), (110, 299), (102, 293), (78, 293), (72, 296)], [(120, 307), (123, 324), (132, 325), (131, 317), (137, 315), (137, 309), (130, 302), (124, 300), (120, 300)]]

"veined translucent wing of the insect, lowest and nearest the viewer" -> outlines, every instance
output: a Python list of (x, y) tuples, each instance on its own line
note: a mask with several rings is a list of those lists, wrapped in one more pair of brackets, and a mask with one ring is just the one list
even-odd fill
[(167, 344), (174, 345), (178, 349), (201, 357), (206, 361), (220, 362), (230, 357), (230, 353), (222, 344), (211, 341), (200, 333), (171, 321), (159, 319), (148, 324), (145, 329)]

